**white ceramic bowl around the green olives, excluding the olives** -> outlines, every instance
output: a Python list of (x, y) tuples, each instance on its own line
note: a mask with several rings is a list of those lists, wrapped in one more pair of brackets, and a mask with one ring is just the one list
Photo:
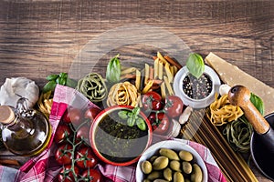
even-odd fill
[(201, 167), (203, 171), (203, 182), (207, 182), (207, 168), (205, 167), (205, 162), (202, 157), (195, 151), (193, 147), (190, 147), (186, 144), (186, 140), (165, 140), (158, 143), (153, 144), (153, 146), (148, 147), (142, 157), (140, 157), (137, 168), (136, 168), (136, 182), (142, 182), (144, 178), (144, 174), (142, 173), (141, 164), (142, 161), (147, 160), (148, 158), (152, 157), (160, 148), (170, 148), (174, 150), (185, 150), (191, 152), (194, 156), (194, 162)]

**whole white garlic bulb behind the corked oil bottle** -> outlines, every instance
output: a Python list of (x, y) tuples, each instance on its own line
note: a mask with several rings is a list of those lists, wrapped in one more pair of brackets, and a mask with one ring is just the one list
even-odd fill
[(21, 97), (25, 97), (27, 105), (33, 107), (39, 97), (39, 87), (26, 77), (6, 78), (0, 89), (0, 105), (16, 107)]

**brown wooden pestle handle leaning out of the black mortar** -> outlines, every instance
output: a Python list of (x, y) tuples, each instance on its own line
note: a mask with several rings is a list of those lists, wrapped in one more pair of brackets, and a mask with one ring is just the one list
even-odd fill
[(245, 86), (233, 86), (228, 92), (229, 102), (234, 106), (240, 106), (258, 134), (266, 134), (269, 123), (258, 112), (258, 109), (250, 102), (250, 91)]

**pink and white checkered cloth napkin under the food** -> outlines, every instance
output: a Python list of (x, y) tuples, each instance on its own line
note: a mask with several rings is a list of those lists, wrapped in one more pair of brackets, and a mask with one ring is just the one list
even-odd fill
[[(61, 116), (67, 109), (67, 106), (70, 105), (75, 99), (77, 99), (79, 101), (78, 103), (83, 107), (93, 105), (87, 98), (79, 94), (79, 92), (75, 89), (69, 88), (68, 86), (59, 85), (56, 87), (51, 115), (49, 117), (53, 133), (48, 147), (42, 152), (42, 154), (27, 161), (24, 166), (19, 168), (19, 170), (11, 167), (0, 166), (1, 181), (57, 181), (57, 176), (61, 167), (54, 159), (55, 145), (52, 141)], [(203, 157), (205, 166), (208, 170), (208, 181), (226, 181), (226, 178), (221, 173), (219, 167), (217, 167), (216, 161), (206, 147), (191, 141), (188, 141), (188, 145), (195, 148), (201, 157)], [(115, 182), (136, 181), (135, 167), (136, 164), (128, 167), (116, 167), (105, 164), (98, 165), (100, 172), (104, 177), (106, 177), (105, 181)]]

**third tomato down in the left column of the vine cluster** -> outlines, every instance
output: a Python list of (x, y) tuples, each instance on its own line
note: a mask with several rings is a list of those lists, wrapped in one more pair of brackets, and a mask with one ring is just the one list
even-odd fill
[(62, 144), (60, 145), (55, 152), (55, 159), (60, 165), (68, 165), (71, 163), (72, 155), (71, 155), (72, 146), (70, 144)]

